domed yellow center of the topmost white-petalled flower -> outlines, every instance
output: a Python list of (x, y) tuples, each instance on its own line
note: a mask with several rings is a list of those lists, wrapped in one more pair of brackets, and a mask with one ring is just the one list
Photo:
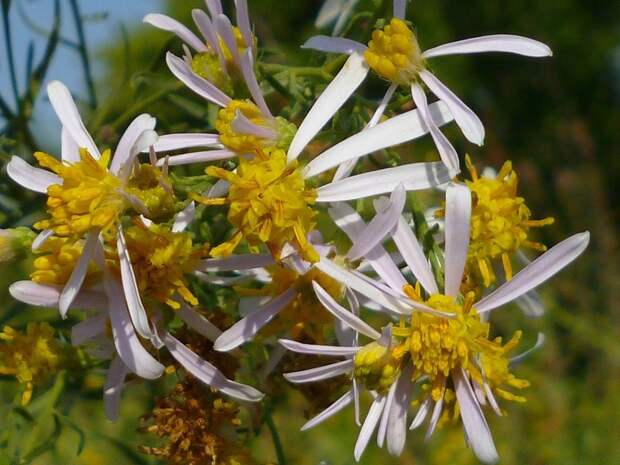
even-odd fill
[(372, 33), (364, 58), (379, 76), (403, 86), (415, 82), (426, 68), (415, 33), (398, 18)]

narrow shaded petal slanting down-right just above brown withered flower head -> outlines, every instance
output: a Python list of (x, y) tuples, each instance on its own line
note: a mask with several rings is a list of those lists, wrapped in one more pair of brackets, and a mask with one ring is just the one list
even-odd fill
[(163, 342), (170, 354), (183, 368), (206, 385), (218, 389), (231, 397), (248, 402), (258, 402), (263, 398), (263, 393), (252, 386), (226, 379), (215, 366), (200, 358), (169, 333), (164, 334)]

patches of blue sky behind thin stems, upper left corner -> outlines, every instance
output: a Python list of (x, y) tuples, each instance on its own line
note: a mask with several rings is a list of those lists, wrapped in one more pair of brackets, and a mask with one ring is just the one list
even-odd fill
[[(62, 9), (62, 35), (75, 40), (76, 33), (68, 0), (60, 0)], [(90, 48), (94, 74), (97, 75), (96, 52), (98, 47), (105, 44), (106, 40), (116, 38), (119, 34), (120, 24), (128, 29), (140, 27), (142, 18), (146, 13), (160, 11), (160, 0), (80, 0), (80, 9), (83, 15), (97, 15), (107, 13), (104, 20), (89, 21), (85, 24), (87, 43)], [(38, 26), (47, 30), (51, 28), (53, 21), (54, 2), (52, 0), (13, 0), (10, 22), (12, 28), (15, 66), (17, 69), (17, 81), (21, 90), (25, 83), (25, 67), (28, 44), (35, 43), (35, 63), (41, 59), (45, 47), (45, 38), (32, 31), (22, 19), (19, 8)], [(0, 34), (0, 93), (5, 101), (14, 104), (13, 92), (8, 71), (4, 34)], [(82, 66), (79, 56), (68, 47), (61, 47), (54, 57), (47, 80), (59, 79), (63, 81), (74, 93), (81, 97), (86, 95), (85, 84), (82, 74)], [(37, 131), (43, 131), (39, 140), (52, 140), (60, 137), (60, 126), (56, 122), (51, 107), (46, 99), (39, 99), (35, 107), (33, 126)]]

